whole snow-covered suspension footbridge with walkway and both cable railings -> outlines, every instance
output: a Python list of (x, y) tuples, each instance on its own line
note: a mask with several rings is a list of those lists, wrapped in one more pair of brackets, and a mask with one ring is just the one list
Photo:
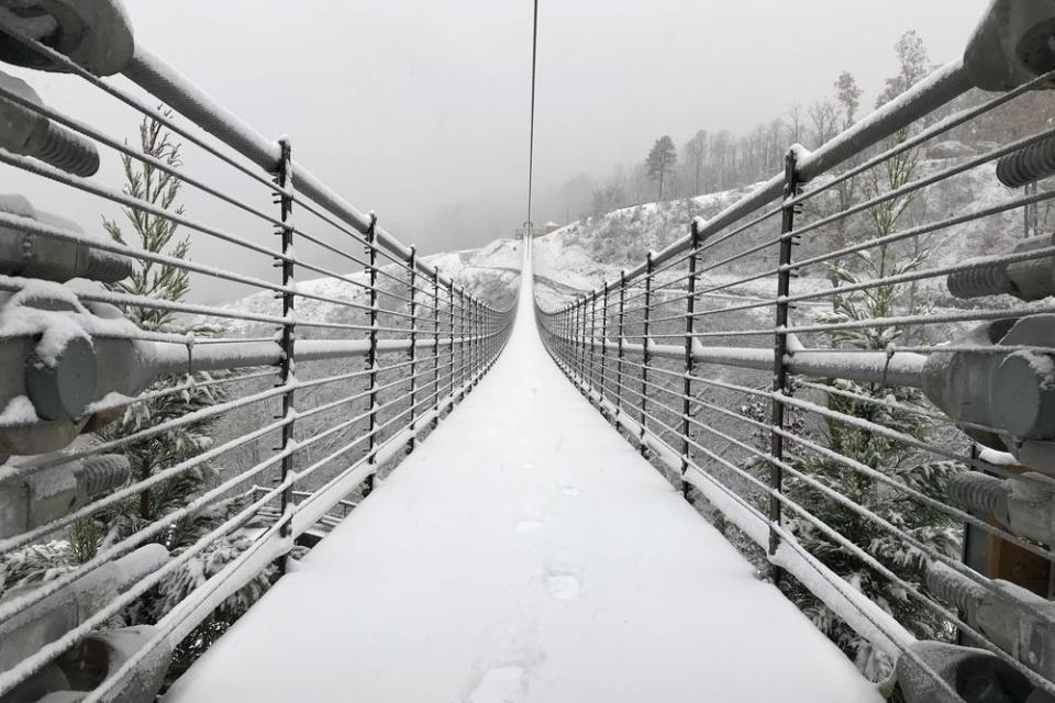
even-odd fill
[(532, 242), (519, 271), (422, 256), (115, 0), (67, 10), (0, 3), (10, 182), (226, 256), (0, 197), (0, 703), (1055, 700), (1055, 127), (937, 148), (1055, 86), (1055, 3), (996, 0), (962, 57), (556, 303)]

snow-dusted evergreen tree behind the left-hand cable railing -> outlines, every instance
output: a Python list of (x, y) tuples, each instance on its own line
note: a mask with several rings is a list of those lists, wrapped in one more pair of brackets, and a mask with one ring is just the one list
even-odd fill
[[(167, 116), (169, 113), (163, 114)], [(173, 168), (181, 166), (180, 144), (173, 140), (173, 135), (159, 122), (149, 118), (144, 119), (140, 124), (138, 136), (140, 147), (144, 154)], [(184, 213), (182, 205), (177, 203), (182, 185), (179, 178), (130, 157), (123, 158), (123, 166), (126, 194), (145, 200), (168, 212)], [(134, 246), (177, 258), (186, 258), (190, 254), (190, 239), (186, 236), (177, 236), (179, 230), (177, 223), (132, 209), (125, 210), (124, 214), (131, 225), (130, 236), (133, 238)], [(114, 241), (127, 244), (124, 230), (118, 222), (106, 220), (104, 226)], [(179, 302), (190, 290), (190, 276), (188, 271), (180, 268), (140, 261), (129, 279), (114, 283), (111, 288), (130, 295)], [(210, 336), (218, 332), (213, 326), (189, 324), (170, 311), (151, 306), (129, 305), (124, 313), (144, 331), (192, 333), (196, 336)], [(114, 439), (127, 436), (144, 427), (181, 417), (222, 402), (224, 393), (219, 387), (202, 386), (212, 380), (214, 380), (213, 375), (196, 372), (157, 381), (147, 389), (147, 392), (162, 391), (162, 393), (148, 402), (131, 405), (120, 421), (111, 423), (103, 431), (103, 437)], [(188, 386), (189, 381), (193, 381), (189, 388), (175, 393), (164, 393), (176, 386)], [(213, 444), (212, 431), (215, 422), (215, 419), (201, 420), (125, 447), (123, 451), (131, 462), (133, 480), (145, 480), (158, 471), (207, 451)], [(207, 465), (196, 467), (178, 478), (143, 491), (137, 500), (130, 501), (120, 510), (101, 516), (104, 523), (102, 532), (106, 534), (102, 544), (120, 540), (185, 506), (203, 490), (213, 486), (216, 475), (216, 470)], [(206, 511), (177, 521), (159, 537), (158, 542), (173, 554), (179, 554), (242, 506), (243, 501), (238, 498), (220, 501)], [(251, 542), (243, 531), (216, 540), (130, 609), (124, 615), (126, 622), (129, 624), (156, 622), (195, 588), (236, 558)], [(259, 599), (276, 577), (274, 568), (257, 574), (188, 635), (187, 639), (176, 648), (169, 679), (185, 671), (212, 641)]]

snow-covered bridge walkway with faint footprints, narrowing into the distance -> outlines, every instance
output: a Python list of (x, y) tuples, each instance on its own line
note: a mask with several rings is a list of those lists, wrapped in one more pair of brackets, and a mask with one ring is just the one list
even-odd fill
[(493, 370), (168, 703), (856, 703), (873, 687), (568, 383)]

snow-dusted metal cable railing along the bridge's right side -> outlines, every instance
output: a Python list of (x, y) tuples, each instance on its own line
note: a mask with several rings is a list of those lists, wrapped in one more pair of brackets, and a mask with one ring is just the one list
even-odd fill
[(991, 43), (1001, 16), (1050, 30), (1041, 4), (995, 3), (964, 62), (537, 308), (581, 392), (909, 701), (1055, 694), (1055, 130), (932, 149), (1051, 86)]

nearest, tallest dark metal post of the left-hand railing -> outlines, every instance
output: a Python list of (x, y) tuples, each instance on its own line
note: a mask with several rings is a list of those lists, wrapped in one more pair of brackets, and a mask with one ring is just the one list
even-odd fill
[[(281, 447), (281, 450), (285, 453), (289, 449), (290, 444), (293, 443), (293, 422), (297, 417), (296, 397), (293, 392), (293, 387), (297, 383), (297, 358), (295, 354), (297, 321), (293, 316), (297, 297), (293, 294), (296, 265), (290, 260), (293, 254), (293, 198), (291, 194), (293, 188), (292, 147), (289, 141), (285, 138), (281, 140), (279, 144), (282, 149), (282, 159), (278, 166), (275, 183), (284, 191), (277, 199), (282, 221), (282, 224), (277, 227), (277, 234), (281, 237), (282, 256), (286, 257), (280, 261), (282, 269), (282, 360), (279, 365), (279, 383), (286, 388), (286, 391), (282, 393), (282, 419), (287, 422), (282, 425)], [(285, 454), (279, 472), (279, 483), (285, 483), (295, 471), (296, 457), (292, 454)], [(279, 521), (281, 521), (279, 535), (282, 537), (290, 535), (291, 525), (287, 520), (286, 513), (290, 509), (292, 499), (293, 488), (292, 486), (287, 486), (282, 490), (281, 498), (279, 499)], [(278, 570), (280, 573), (286, 573), (287, 559), (288, 555), (282, 555), (278, 560)]]

